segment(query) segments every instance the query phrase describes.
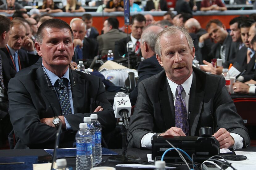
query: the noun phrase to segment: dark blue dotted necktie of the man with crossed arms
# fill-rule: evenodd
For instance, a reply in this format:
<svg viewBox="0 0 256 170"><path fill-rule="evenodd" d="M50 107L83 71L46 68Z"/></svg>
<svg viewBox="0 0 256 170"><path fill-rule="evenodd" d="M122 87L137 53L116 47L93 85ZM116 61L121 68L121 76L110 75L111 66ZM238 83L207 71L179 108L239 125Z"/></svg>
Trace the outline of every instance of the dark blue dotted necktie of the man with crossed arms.
<svg viewBox="0 0 256 170"><path fill-rule="evenodd" d="M65 78L65 80L67 80ZM72 114L72 109L70 105L70 101L68 100L68 90L65 90L64 87L66 87L64 84L64 78L60 78L56 81L56 85L59 86L61 89L58 90L59 92L59 99L60 99L60 106L62 115Z"/></svg>

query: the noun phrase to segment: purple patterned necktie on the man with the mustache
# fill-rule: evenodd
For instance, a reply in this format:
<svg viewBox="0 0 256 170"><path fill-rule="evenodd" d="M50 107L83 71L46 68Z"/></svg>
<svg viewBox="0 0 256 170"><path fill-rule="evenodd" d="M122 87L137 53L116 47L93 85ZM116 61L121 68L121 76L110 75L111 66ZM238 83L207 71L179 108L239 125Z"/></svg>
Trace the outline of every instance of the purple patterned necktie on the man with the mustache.
<svg viewBox="0 0 256 170"><path fill-rule="evenodd" d="M188 115L187 108L181 93L184 88L181 85L177 87L177 97L175 99L175 127L181 128L185 135L188 135L189 129L187 125ZM187 125L187 127L186 127Z"/></svg>

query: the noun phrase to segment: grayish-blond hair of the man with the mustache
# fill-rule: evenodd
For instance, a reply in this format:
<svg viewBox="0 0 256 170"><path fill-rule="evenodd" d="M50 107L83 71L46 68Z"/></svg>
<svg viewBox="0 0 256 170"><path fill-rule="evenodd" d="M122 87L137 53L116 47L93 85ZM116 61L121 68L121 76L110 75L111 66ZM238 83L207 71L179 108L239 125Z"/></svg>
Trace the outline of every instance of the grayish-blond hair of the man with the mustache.
<svg viewBox="0 0 256 170"><path fill-rule="evenodd" d="M169 26L166 29L164 29L163 31L161 31L160 34L158 34L158 36L156 38L155 53L158 54L159 57L162 57L162 47L161 47L161 44L160 44L160 39L162 37L169 37L171 35L178 35L178 34L180 34L179 32L184 34L184 36L186 37L186 39L188 41L189 49L191 51L193 50L194 43L193 43L193 40L192 40L191 36L188 33L188 30L185 29L184 27L180 27L180 26Z"/></svg>

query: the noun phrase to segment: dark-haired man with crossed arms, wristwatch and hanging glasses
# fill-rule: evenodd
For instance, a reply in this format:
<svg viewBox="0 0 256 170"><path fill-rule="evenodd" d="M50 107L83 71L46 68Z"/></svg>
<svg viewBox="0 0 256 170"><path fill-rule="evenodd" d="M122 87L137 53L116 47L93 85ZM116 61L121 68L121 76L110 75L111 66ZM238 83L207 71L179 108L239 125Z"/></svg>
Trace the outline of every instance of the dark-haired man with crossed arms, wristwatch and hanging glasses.
<svg viewBox="0 0 256 170"><path fill-rule="evenodd" d="M72 29L60 19L39 26L35 48L42 64L16 75L8 86L14 149L53 148L60 122L59 148L73 147L79 123L93 112L98 114L102 145L107 147L108 132L116 125L113 107L99 77L69 68L73 40Z"/></svg>

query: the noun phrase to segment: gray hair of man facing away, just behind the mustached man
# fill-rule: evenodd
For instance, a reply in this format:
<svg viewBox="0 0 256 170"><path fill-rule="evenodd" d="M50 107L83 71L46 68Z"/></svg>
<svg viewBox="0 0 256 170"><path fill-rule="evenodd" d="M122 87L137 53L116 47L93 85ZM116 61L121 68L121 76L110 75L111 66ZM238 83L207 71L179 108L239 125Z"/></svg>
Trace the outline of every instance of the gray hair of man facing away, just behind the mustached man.
<svg viewBox="0 0 256 170"><path fill-rule="evenodd" d="M148 26L141 35L141 42L146 42L149 48L155 52L155 41L157 35L163 30L160 26Z"/></svg>

